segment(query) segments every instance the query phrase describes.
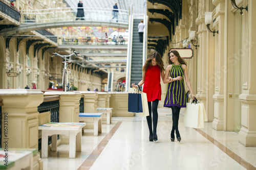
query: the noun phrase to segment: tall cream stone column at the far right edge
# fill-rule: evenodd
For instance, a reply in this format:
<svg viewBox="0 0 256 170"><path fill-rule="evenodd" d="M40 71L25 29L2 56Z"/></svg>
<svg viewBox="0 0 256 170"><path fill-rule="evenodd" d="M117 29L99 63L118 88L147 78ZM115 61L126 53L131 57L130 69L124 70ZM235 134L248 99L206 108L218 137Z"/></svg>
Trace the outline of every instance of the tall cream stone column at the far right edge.
<svg viewBox="0 0 256 170"><path fill-rule="evenodd" d="M244 7L247 4L244 2ZM256 7L256 1L248 1L249 9ZM254 21L256 11L254 10L243 10L244 12L244 58L243 74L242 74L242 94L239 99L242 102L242 115L241 125L242 128L239 132L239 142L246 147L256 147L256 80L255 80L255 54L256 54L256 33L255 27L256 22Z"/></svg>

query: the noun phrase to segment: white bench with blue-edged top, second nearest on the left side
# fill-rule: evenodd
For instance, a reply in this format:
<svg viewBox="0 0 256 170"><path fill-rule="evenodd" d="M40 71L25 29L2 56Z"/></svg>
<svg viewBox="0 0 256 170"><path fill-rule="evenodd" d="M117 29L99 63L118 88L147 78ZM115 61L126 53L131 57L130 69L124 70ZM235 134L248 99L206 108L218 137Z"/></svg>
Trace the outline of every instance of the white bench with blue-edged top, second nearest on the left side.
<svg viewBox="0 0 256 170"><path fill-rule="evenodd" d="M101 115L102 114L103 113L79 113L79 121L90 120L91 118L93 118L94 136L98 136L98 134L101 133L101 125L102 125Z"/></svg>

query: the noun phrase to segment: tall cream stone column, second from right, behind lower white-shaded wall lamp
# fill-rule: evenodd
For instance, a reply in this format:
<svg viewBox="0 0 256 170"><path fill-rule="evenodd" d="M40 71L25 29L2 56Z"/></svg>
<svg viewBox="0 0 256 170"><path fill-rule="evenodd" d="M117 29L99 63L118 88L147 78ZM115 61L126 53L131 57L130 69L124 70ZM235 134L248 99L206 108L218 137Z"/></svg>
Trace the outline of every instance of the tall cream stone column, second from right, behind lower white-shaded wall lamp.
<svg viewBox="0 0 256 170"><path fill-rule="evenodd" d="M212 4L216 6L213 13L213 23L210 25L212 30L219 30L219 34L215 34L215 94L214 99L214 121L212 128L215 130L224 130L224 39L225 39L225 1L215 0ZM209 36L212 36L212 33Z"/></svg>

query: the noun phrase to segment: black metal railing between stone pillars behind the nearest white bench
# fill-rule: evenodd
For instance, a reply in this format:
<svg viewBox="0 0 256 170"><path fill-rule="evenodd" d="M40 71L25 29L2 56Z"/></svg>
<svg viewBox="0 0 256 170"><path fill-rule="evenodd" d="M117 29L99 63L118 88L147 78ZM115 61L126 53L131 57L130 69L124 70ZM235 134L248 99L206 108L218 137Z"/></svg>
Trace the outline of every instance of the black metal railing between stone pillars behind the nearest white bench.
<svg viewBox="0 0 256 170"><path fill-rule="evenodd" d="M42 102L38 107L37 111L40 113L50 111L51 122L59 122L59 95L45 96L44 102ZM57 137L59 139L59 135ZM52 137L48 137L48 144L52 143ZM41 150L41 138L38 139L38 151Z"/></svg>

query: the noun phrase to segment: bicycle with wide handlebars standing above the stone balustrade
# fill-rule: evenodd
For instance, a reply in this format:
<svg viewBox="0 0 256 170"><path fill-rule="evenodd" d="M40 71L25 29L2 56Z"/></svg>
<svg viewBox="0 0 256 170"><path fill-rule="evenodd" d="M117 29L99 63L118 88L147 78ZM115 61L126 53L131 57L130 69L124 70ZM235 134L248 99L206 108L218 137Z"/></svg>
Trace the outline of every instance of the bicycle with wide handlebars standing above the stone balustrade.
<svg viewBox="0 0 256 170"><path fill-rule="evenodd" d="M60 55L58 53L53 53L52 57L61 57L62 59L65 59L65 61L62 61L62 65L63 65L63 73L62 73L62 83L58 83L59 86L62 86L63 91L70 91L71 90L71 83L70 83L70 79L69 79L69 74L71 72L70 70L70 65L72 64L72 61L67 61L67 57L71 57L71 56L78 56L79 53L72 53L70 55Z"/></svg>

